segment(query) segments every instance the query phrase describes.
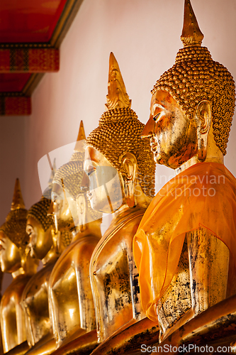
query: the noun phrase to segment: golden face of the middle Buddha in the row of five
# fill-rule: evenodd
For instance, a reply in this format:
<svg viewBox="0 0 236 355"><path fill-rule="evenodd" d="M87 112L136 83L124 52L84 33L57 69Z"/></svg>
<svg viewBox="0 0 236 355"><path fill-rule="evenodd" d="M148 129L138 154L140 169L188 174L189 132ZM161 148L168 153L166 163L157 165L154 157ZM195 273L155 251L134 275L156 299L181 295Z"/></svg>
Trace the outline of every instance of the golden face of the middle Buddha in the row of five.
<svg viewBox="0 0 236 355"><path fill-rule="evenodd" d="M77 202L57 183L52 185L53 217L56 229L72 231L78 224Z"/></svg>

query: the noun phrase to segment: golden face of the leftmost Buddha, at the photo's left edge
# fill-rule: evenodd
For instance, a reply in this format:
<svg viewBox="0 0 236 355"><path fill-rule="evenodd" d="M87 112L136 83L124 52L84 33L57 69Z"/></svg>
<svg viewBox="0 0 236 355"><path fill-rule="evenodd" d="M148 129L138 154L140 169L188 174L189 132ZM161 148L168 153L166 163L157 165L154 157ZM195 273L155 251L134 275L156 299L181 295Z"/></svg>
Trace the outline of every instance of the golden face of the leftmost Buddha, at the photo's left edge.
<svg viewBox="0 0 236 355"><path fill-rule="evenodd" d="M4 273L13 273L21 268L21 253L18 247L0 231L0 265Z"/></svg>

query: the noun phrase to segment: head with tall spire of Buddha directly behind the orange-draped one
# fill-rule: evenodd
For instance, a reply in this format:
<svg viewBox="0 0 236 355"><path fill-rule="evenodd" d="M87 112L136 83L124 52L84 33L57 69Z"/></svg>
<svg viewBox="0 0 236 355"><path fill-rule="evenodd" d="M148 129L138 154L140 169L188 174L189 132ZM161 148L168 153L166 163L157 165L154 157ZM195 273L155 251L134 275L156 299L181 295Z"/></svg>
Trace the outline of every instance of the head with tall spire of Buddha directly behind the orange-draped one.
<svg viewBox="0 0 236 355"><path fill-rule="evenodd" d="M106 111L86 139L84 170L94 210L113 213L121 206L147 207L154 195L154 161L140 136L143 124L130 109L118 62L109 60Z"/></svg>

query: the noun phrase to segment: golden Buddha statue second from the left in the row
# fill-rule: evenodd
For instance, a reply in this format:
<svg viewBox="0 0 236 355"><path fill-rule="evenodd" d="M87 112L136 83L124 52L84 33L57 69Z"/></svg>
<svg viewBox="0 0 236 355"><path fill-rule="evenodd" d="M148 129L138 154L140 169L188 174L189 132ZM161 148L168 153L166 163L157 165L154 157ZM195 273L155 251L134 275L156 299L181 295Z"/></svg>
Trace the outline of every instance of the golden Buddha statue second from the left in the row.
<svg viewBox="0 0 236 355"><path fill-rule="evenodd" d="M35 344L40 344L40 339L45 342L45 338L50 337L52 331L48 311L48 280L59 256L52 239L52 216L47 216L51 203L53 175L52 173L49 187L44 192L43 197L30 207L27 215L26 232L30 238L28 244L30 256L40 259L43 268L29 280L21 297L21 306L26 317L28 342L28 346L25 344L21 346L21 349L18 347L21 354L23 353L23 347L28 350Z"/></svg>

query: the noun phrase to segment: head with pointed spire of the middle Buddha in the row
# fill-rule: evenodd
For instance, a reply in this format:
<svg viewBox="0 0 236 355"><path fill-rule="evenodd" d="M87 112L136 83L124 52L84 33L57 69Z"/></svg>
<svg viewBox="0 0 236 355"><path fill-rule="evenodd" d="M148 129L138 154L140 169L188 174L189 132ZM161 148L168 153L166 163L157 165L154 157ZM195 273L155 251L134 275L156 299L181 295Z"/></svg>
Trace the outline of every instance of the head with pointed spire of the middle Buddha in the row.
<svg viewBox="0 0 236 355"><path fill-rule="evenodd" d="M62 165L52 181L52 202L55 224L63 234L76 228L83 229L85 224L101 219L88 204L81 189L84 175L84 124L81 121L74 153L68 163ZM88 208L86 208L88 207Z"/></svg>

